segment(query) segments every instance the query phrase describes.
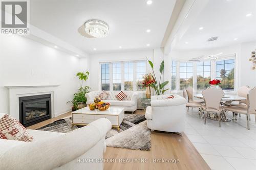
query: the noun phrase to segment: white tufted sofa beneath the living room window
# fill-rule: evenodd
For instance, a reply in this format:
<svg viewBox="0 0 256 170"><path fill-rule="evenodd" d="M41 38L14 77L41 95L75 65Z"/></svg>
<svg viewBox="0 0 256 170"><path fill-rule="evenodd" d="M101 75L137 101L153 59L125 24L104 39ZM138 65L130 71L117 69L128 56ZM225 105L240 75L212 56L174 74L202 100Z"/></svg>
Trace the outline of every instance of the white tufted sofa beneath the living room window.
<svg viewBox="0 0 256 170"><path fill-rule="evenodd" d="M87 104L94 103L94 98L99 96L102 91L91 91L86 94ZM110 93L109 98L103 100L104 102L109 102L111 107L123 107L124 111L134 112L137 110L137 99L138 93L134 91L124 91L127 94L127 97L123 101L116 99L115 95L120 91L106 91Z"/></svg>

